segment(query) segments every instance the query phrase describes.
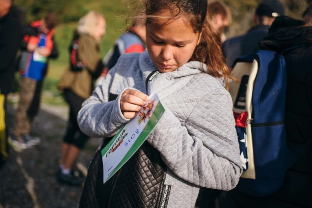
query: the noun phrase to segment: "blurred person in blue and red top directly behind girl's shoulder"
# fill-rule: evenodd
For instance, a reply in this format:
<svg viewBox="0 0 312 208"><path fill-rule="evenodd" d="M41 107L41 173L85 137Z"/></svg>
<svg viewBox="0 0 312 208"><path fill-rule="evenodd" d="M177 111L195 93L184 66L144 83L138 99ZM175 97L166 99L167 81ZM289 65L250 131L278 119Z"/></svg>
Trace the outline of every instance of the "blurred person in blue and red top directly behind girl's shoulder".
<svg viewBox="0 0 312 208"><path fill-rule="evenodd" d="M140 18L135 18L126 32L116 40L114 48L105 56L103 60L105 69L97 79L96 85L102 83L103 78L107 75L108 71L116 65L121 55L142 53L145 50L145 41L146 32L144 21Z"/></svg>

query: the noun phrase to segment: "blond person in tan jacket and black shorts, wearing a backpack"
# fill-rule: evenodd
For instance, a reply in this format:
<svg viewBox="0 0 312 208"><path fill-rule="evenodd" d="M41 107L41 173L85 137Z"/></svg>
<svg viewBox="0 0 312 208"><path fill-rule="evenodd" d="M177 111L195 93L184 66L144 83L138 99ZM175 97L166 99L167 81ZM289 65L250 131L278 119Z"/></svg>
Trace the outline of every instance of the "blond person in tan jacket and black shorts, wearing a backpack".
<svg viewBox="0 0 312 208"><path fill-rule="evenodd" d="M58 178L70 185L80 185L83 182L82 178L74 174L73 166L89 136L80 131L77 115L82 102L93 91L93 81L99 77L103 69L99 45L105 33L106 20L100 13L90 11L79 20L77 33L70 47L71 65L59 83L59 88L63 90L69 104L70 114L62 143Z"/></svg>

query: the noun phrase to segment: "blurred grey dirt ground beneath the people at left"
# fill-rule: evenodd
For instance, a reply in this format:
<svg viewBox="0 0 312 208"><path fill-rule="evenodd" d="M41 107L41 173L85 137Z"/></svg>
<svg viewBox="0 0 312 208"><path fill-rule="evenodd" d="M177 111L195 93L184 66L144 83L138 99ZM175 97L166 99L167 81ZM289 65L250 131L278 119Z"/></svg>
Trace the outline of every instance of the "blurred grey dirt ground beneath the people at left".
<svg viewBox="0 0 312 208"><path fill-rule="evenodd" d="M8 105L9 128L15 111L16 105ZM42 106L33 125L41 143L25 150L11 147L10 158L0 170L0 208L77 207L82 187L60 184L56 178L67 117L66 107ZM80 155L77 166L83 172L99 143L100 139L90 139Z"/></svg>

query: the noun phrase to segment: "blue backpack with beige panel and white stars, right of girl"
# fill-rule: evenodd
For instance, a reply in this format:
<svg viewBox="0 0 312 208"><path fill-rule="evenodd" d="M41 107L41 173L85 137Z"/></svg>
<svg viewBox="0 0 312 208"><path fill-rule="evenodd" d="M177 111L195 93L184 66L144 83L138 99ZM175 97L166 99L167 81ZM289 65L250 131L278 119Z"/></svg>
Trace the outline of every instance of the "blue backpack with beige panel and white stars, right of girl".
<svg viewBox="0 0 312 208"><path fill-rule="evenodd" d="M296 157L286 147L286 66L283 53L259 50L235 61L230 83L243 174L237 189L267 196L283 184Z"/></svg>

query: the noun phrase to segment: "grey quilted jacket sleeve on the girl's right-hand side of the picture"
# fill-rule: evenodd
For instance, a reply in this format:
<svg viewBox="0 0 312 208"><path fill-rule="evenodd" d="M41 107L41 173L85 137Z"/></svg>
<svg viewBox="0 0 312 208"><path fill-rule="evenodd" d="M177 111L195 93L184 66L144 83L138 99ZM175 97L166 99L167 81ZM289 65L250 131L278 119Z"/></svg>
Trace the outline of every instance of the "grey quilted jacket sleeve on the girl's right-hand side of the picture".
<svg viewBox="0 0 312 208"><path fill-rule="evenodd" d="M173 173L195 185L231 190L242 173L232 101L225 89L206 94L184 125L166 109L147 141Z"/></svg>

